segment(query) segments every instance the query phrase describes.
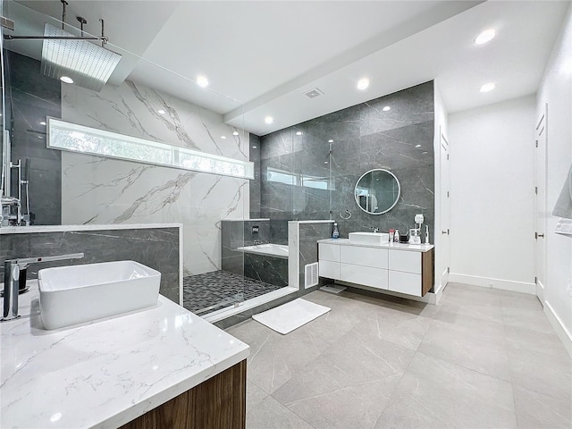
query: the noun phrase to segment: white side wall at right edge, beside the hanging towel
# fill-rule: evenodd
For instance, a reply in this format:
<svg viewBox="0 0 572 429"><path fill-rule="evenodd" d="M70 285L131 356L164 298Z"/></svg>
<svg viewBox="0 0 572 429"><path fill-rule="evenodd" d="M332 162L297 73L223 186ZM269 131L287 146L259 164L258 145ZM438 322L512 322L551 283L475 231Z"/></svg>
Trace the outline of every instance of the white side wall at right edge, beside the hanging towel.
<svg viewBox="0 0 572 429"><path fill-rule="evenodd" d="M550 215L572 162L572 6L552 49L537 102L537 114L548 103L544 311L572 354L572 238L553 232L559 219Z"/></svg>

